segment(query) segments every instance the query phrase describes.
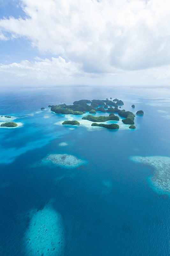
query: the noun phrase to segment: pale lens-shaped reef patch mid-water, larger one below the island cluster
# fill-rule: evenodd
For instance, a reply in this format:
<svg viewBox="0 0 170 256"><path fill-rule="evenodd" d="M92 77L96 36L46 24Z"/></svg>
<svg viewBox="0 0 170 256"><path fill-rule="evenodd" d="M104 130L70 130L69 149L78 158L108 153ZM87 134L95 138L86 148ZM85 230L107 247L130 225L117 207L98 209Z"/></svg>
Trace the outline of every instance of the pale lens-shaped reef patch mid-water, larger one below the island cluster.
<svg viewBox="0 0 170 256"><path fill-rule="evenodd" d="M50 154L42 160L42 163L44 164L48 164L50 162L65 168L76 168L85 164L84 160L68 154Z"/></svg>

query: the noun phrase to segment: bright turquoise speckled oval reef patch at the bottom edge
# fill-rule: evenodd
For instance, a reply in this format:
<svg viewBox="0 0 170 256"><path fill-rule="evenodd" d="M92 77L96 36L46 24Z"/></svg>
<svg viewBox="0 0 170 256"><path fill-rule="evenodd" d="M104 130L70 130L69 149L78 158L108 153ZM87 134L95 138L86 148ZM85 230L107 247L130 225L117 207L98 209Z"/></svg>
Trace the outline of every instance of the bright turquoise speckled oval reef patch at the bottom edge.
<svg viewBox="0 0 170 256"><path fill-rule="evenodd" d="M30 213L30 223L24 236L24 249L29 256L63 255L64 228L61 215L45 206Z"/></svg>

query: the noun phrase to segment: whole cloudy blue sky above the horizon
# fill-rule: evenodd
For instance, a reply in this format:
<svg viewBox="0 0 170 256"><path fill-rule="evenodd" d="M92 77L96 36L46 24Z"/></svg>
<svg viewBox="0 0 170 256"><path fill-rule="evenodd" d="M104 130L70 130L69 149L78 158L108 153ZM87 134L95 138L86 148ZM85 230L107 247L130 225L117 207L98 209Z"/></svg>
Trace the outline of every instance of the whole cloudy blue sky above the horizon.
<svg viewBox="0 0 170 256"><path fill-rule="evenodd" d="M170 85L169 0L0 0L0 87Z"/></svg>

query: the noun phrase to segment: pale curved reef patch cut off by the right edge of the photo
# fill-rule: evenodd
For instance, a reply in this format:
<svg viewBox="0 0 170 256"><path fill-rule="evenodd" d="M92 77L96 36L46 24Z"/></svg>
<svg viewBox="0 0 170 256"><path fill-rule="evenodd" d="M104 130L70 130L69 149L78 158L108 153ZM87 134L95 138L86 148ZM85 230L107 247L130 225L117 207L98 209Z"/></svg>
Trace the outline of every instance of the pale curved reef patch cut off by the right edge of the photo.
<svg viewBox="0 0 170 256"><path fill-rule="evenodd" d="M155 169L151 182L163 194L170 193L170 157L168 156L132 156L130 160L152 166Z"/></svg>

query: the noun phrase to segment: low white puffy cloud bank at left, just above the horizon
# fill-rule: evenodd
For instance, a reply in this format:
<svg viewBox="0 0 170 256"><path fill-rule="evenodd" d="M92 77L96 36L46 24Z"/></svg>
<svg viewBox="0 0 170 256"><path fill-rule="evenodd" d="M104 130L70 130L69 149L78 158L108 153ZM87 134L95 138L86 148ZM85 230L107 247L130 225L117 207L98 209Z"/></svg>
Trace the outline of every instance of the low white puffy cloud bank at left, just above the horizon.
<svg viewBox="0 0 170 256"><path fill-rule="evenodd" d="M0 73L13 74L32 80L62 79L81 76L78 64L66 62L62 57L49 59L35 58L35 61L22 60L20 63L0 65Z"/></svg>

